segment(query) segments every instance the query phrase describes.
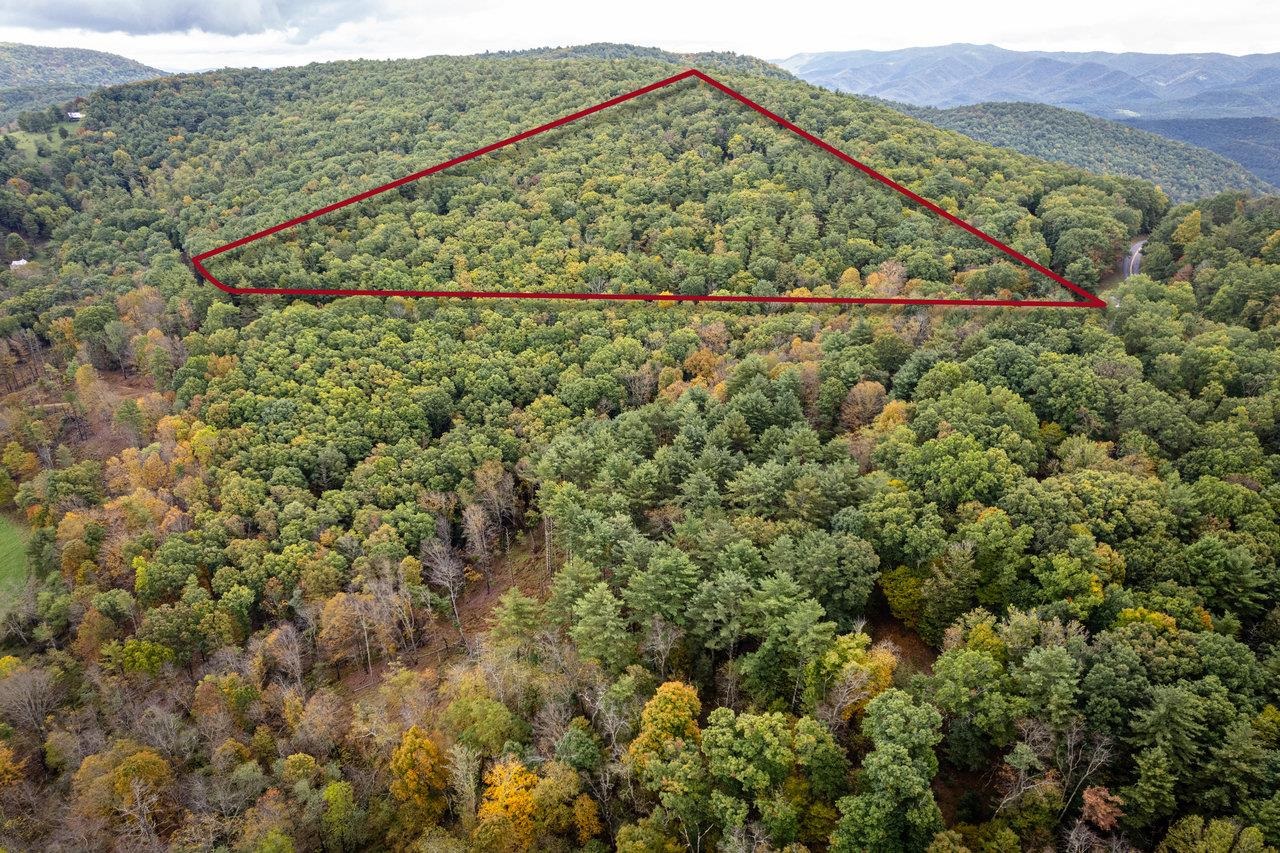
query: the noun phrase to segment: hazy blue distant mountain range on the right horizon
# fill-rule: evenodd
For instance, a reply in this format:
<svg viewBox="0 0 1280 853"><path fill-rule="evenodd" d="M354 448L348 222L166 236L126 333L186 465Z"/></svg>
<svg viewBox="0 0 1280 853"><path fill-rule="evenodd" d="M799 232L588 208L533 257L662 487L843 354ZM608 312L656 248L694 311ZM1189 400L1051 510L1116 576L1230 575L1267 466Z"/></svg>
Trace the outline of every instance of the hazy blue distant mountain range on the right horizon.
<svg viewBox="0 0 1280 853"><path fill-rule="evenodd" d="M1280 115L1280 54L1015 51L995 45L796 54L819 86L923 106L1034 101L1102 118Z"/></svg>

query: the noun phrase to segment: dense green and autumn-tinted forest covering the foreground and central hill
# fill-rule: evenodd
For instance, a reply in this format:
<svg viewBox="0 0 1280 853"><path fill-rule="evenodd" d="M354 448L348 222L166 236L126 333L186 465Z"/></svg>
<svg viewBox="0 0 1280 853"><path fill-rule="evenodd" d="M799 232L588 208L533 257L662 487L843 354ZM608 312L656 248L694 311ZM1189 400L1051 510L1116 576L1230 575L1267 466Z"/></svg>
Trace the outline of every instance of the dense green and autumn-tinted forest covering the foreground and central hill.
<svg viewBox="0 0 1280 853"><path fill-rule="evenodd" d="M1107 307L189 265L689 61L209 72L0 138L0 845L1280 848L1280 197L709 55ZM705 87L593 118L210 268L1062 296Z"/></svg>

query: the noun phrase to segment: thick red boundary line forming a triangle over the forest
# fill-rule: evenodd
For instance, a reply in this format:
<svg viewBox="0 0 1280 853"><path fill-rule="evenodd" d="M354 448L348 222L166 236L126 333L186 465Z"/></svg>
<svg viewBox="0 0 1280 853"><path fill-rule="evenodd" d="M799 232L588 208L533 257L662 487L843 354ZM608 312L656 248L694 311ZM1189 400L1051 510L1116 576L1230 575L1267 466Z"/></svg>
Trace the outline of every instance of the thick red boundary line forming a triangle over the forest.
<svg viewBox="0 0 1280 853"><path fill-rule="evenodd" d="M946 219L951 224L963 228L964 231L969 232L970 234L978 237L979 240L982 240L982 241L984 241L987 243L991 243L992 246L995 246L997 250L1000 250L1001 252L1004 252L1009 257L1012 257L1014 260L1019 261L1020 264L1034 269L1037 273L1041 273L1042 275L1047 275L1048 278L1051 278L1052 280L1057 282L1059 284L1061 284L1066 289L1071 291L1076 296L1084 297L1084 301L1070 301L1070 300L992 300L992 298L986 298L986 300L970 300L970 298L948 300L948 298L911 298L911 297L877 297L877 296L865 296L865 297L863 297L863 296L859 296L859 297L844 297L844 296L737 296L737 295L687 296L687 295L682 295L682 293L538 293L538 292L503 292L503 291L379 291L379 289L328 289L328 288L310 288L310 287L232 287L229 284L224 284L223 282L218 280L218 278L205 268L204 261L207 260L207 259L210 259L210 257L214 257L215 255L221 255L223 252L230 251L230 250L237 248L239 246L243 246L246 243L251 243L255 240L261 240L262 237L268 237L268 236L274 234L276 232L284 231L285 228L292 228L293 225L298 225L298 224L305 223L305 222L307 222L310 219L315 219L316 216L323 216L326 213L332 213L334 210L339 210L342 207L346 207L347 205L353 205L357 201L364 201L365 199L371 199L371 197L374 197L376 195L380 195L380 193L387 192L389 190L394 190L397 187L402 187L406 183L412 183L413 181L417 181L420 178L425 178L425 177L428 177L430 174L435 174L438 172L444 172L445 169L456 167L456 165L461 164L461 163L466 163L467 160L474 160L474 159L476 159L479 156L483 156L485 154L490 154L490 152L497 151L499 149L504 149L508 145L513 145L513 143L520 142L522 140L527 140L530 137L538 136L539 133L545 133L547 131L552 131L552 129L554 129L557 127L568 124L571 122L576 122L580 118L585 118L585 117L591 115L594 113L599 113L600 110L607 110L611 106L617 106L618 104L623 104L623 102L630 101L630 100L632 100L635 97L640 97L641 95L648 95L649 92L657 91L659 88L666 88L667 86L671 86L673 83L678 83L680 81L689 79L691 77L692 78L698 78L698 79L703 81L704 83L708 83L713 88L717 88L721 92L728 95L733 100L745 104L746 106L751 108L753 110L755 110L756 113L759 113L764 118L769 119L771 122L773 122L778 127L782 127L782 128L790 131L791 133L795 133L796 136L799 136L800 138L805 140L806 142L810 142L810 143L818 146L823 151L827 151L828 154L838 158L840 160L842 160L846 164L854 167L855 169L858 169L859 172L867 174L868 177L874 178L876 181L881 182L882 184L884 184L890 190L893 190L895 192L897 192L897 193L900 193L902 196L906 196L908 199L910 199L915 204L920 205L922 207L924 207L924 209L927 209L927 210L929 210L929 211L932 211L932 213L942 216L943 219ZM934 202L929 201L928 199L911 192L910 190L908 190L902 184L897 183L892 178L888 178L888 177L881 174L879 172L877 172L876 169L870 168L865 163L861 163L860 160L856 160L856 159L849 156L847 154L845 154L840 149L835 147L833 145L829 145L828 142L824 142L823 140L820 140L817 136L809 133L808 131L804 131L803 128L797 127L796 124L792 124L791 122L788 122L787 119L782 118L781 115L767 110L765 108L760 106L759 104L756 104L751 99L746 97L741 92L739 92L739 91L736 91L733 88L730 88L724 83L722 83L718 79L710 77L709 74L704 74L703 72L698 70L696 68L690 68L689 70L684 70L684 72L681 72L678 74L675 74L672 77L667 77L666 79L659 79L655 83L649 83L648 86L643 86L643 87L640 87L640 88L637 88L635 91L627 92L626 95L618 95L617 97L611 97L607 101L600 101L599 104L595 104L594 106L588 106L586 109L579 110L576 113L570 113L568 115L563 115L563 117L561 117L561 118L558 118L558 119L556 119L553 122L548 122L547 124L540 124L540 126L538 126L535 128L530 128L527 131L524 131L522 133L517 133L516 136L507 137L506 140L499 140L498 142L490 142L489 145L484 146L483 149L476 149L475 151L471 151L468 154L462 154L460 156L456 156L452 160L445 160L444 163L438 163L434 167L422 169L421 172L415 172L412 174L407 174L403 178L397 178L396 181L392 181L390 183L384 183L380 187L374 187L372 190L366 190L366 191L364 191L361 193L351 196L349 199L343 199L342 201L335 201L332 205L325 205L324 207L320 207L319 210L312 210L311 213L302 214L301 216L294 216L293 219L288 219L288 220L282 222L282 223L279 223L276 225L271 225L270 228L264 228L262 231L255 232L255 233L248 234L246 237L241 237L239 240L233 240L232 242L229 242L229 243L227 243L224 246L219 246L218 248L212 248L212 250L210 250L207 252L201 252L198 255L195 255L191 259L191 263L196 268L196 270L201 275L204 275L206 279L209 279L209 282L211 282L215 287L218 287L219 289L225 291L228 293L236 295L236 296L248 296L248 295L264 295L264 296L407 296L407 297L507 298L507 300L608 300L608 301L643 301L643 302L787 302L787 304L808 304L808 305L813 305L813 304L817 304L817 305L955 305L955 306L992 305L992 306L1002 306L1002 307L1093 307L1093 309L1106 307L1106 301L1098 298L1097 296L1094 296L1093 293L1088 292L1087 289L1084 289L1079 284L1074 284L1074 283L1066 280L1065 278L1062 278L1061 275L1059 275L1053 270L1048 269L1047 266L1043 266L1042 264L1036 263L1034 260L1032 260L1030 257L1027 257L1025 255L1023 255L1018 250L1015 250L1015 248L1012 248L1010 246L1006 246L1005 243L1000 242L998 240L996 240L995 237L992 237L987 232L984 232L984 231L982 231L979 228L975 228L974 225L970 225L965 220L960 219L959 216L955 216L955 215L947 213L946 210L943 210L942 207L940 207Z"/></svg>

